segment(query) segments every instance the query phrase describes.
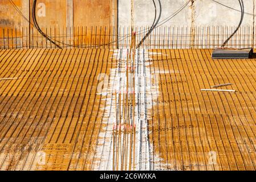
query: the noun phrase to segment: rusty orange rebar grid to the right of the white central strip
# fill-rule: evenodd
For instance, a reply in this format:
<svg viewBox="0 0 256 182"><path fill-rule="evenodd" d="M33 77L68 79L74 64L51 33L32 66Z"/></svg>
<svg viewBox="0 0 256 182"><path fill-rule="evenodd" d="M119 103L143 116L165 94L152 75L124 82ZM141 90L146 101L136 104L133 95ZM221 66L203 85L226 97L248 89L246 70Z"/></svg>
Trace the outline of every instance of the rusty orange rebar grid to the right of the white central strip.
<svg viewBox="0 0 256 182"><path fill-rule="evenodd" d="M153 52L160 94L149 138L164 159L158 169L255 170L255 59L212 60L209 49ZM237 92L200 91L228 82L224 89Z"/></svg>

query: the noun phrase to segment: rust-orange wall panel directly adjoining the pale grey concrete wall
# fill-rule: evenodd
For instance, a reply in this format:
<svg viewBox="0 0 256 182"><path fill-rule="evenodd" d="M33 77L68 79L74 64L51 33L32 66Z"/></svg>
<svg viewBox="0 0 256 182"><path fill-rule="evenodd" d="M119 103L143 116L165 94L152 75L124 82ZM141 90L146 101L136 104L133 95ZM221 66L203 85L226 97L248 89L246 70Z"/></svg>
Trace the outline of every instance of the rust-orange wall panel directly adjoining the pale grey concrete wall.
<svg viewBox="0 0 256 182"><path fill-rule="evenodd" d="M83 40L79 42L109 43L111 39L108 36L98 36L94 39L91 35L113 34L110 27L117 26L117 0L74 0L73 2L73 23L76 28L74 35L81 35L82 32L84 35Z"/></svg>

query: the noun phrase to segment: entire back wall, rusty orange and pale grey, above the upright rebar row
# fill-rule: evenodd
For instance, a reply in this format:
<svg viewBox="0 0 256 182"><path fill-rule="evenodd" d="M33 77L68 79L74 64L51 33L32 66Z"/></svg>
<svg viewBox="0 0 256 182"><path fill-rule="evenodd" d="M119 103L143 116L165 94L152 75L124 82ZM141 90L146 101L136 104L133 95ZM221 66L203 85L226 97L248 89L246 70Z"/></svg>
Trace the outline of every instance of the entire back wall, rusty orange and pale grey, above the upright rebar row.
<svg viewBox="0 0 256 182"><path fill-rule="evenodd" d="M118 0L38 0L46 5L46 16L38 17L40 26L115 26L118 19L119 26L131 26L131 1ZM151 26L155 18L155 7L152 0L134 1L134 24L135 26ZM161 0L161 19L164 20L177 11L188 0ZM239 10L237 0L216 0L224 5ZM29 0L13 0L22 13L29 18ZM160 13L158 0L157 17ZM246 13L253 14L255 0L245 0ZM32 0L30 0L32 6ZM38 7L37 7L38 8ZM31 8L30 8L31 9ZM39 8L38 8L39 9ZM178 15L169 20L164 26L235 26L239 21L240 13L219 5L212 0L193 0ZM27 26L9 0L0 1L0 26L20 27ZM245 15L243 25L252 26L254 18Z"/></svg>

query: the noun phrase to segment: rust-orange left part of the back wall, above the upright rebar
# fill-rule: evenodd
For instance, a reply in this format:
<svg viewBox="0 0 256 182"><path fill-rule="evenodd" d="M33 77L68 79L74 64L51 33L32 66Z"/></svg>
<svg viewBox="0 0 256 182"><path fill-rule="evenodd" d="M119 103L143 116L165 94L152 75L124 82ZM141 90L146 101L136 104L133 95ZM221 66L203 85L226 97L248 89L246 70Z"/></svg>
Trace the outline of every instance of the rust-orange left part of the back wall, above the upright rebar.
<svg viewBox="0 0 256 182"><path fill-rule="evenodd" d="M29 19L32 0L13 0L15 5ZM116 25L117 0L73 0L72 10L67 10L66 0L37 0L46 5L46 17L38 17L42 27L66 27L67 16L72 16L74 26L114 26ZM36 11L38 11L36 7ZM74 12L67 15L67 12ZM31 19L32 21L32 19ZM18 14L9 0L0 0L0 27L27 27L29 23Z"/></svg>

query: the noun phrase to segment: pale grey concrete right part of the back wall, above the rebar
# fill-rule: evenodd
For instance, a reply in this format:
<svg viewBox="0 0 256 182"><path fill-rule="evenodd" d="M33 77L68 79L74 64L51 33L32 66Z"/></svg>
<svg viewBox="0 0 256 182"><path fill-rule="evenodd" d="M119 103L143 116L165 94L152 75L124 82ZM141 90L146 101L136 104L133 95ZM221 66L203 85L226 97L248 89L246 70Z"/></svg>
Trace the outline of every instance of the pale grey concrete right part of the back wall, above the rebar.
<svg viewBox="0 0 256 182"><path fill-rule="evenodd" d="M152 0L134 0L135 26L151 26L155 17L155 7ZM237 0L216 0L231 8L240 10ZM254 14L255 0L244 0L246 13ZM159 3L157 16L159 15ZM161 20L168 18L188 0L161 0ZM222 6L212 0L193 0L178 15L169 20L164 26L236 26L241 13ZM243 25L253 26L253 15L245 14ZM160 20L160 22L161 22ZM131 0L119 0L119 26L131 24Z"/></svg>

